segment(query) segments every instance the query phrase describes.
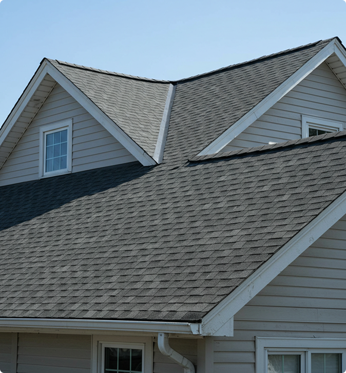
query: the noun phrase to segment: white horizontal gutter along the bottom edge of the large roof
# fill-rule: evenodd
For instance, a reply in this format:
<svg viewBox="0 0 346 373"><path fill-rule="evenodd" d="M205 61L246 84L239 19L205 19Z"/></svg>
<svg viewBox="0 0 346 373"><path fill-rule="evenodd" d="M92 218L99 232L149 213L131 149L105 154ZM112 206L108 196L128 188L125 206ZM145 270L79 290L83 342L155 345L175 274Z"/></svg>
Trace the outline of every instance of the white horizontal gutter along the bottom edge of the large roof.
<svg viewBox="0 0 346 373"><path fill-rule="evenodd" d="M0 318L1 328L138 331L200 335L200 324L188 322Z"/></svg>

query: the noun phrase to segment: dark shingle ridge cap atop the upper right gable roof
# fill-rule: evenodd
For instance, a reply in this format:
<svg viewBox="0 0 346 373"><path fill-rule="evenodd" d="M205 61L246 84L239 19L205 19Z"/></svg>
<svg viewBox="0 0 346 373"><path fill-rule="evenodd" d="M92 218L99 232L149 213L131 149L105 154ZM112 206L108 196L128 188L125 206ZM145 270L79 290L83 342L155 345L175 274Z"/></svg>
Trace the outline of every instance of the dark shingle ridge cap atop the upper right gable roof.
<svg viewBox="0 0 346 373"><path fill-rule="evenodd" d="M182 79L179 79L179 80L175 80L174 82L185 82L185 81L188 81L188 80L197 79L199 77L204 77L204 76L208 76L208 75L217 74L217 73L222 72L222 71L232 70L234 68L238 68L238 67L241 67L241 66L251 65L251 64L256 63L257 61L262 61L262 60L265 60L265 59L271 59L271 58L277 57L279 55L294 53L294 52L297 52L298 50L303 50L303 49L311 48L311 47L314 47L318 43L321 43L321 42L330 42L331 40L333 40L335 38L339 39L337 36L334 36L334 37L331 37L330 39L318 40L317 42L314 42L314 43L305 44L305 45L302 45L302 46L299 46L299 47L295 47L295 48L291 48L291 49L285 49L285 50L280 51L280 52L275 52L275 53L272 53L272 54L264 55L264 56L261 56L261 57L258 57L258 58L254 58L254 59L250 59L248 61L244 61L244 62L241 62L241 63L238 63L238 64L225 66L225 67L222 67L220 69L208 71L208 72L205 72L205 73L202 73L202 74L198 74L198 75L193 75L193 76L190 76L188 78L182 78Z"/></svg>

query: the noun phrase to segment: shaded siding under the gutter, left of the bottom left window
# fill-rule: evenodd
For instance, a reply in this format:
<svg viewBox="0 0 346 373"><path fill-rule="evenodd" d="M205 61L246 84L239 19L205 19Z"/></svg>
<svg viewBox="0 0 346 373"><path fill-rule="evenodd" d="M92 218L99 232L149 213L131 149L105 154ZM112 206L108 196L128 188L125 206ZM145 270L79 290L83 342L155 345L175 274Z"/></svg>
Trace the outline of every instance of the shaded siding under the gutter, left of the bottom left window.
<svg viewBox="0 0 346 373"><path fill-rule="evenodd" d="M91 337L18 335L17 373L90 373Z"/></svg>

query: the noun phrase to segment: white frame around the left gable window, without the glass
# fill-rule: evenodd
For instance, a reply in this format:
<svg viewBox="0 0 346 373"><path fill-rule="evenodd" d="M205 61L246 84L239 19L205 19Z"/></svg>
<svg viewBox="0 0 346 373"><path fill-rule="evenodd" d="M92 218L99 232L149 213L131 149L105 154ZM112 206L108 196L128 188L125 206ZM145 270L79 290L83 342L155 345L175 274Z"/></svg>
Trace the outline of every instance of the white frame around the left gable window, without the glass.
<svg viewBox="0 0 346 373"><path fill-rule="evenodd" d="M45 172L46 161L46 137L50 133L67 130L67 162L66 169ZM68 174L72 172L72 119L62 120L48 126L40 127L40 156L39 156L39 177L50 177L55 175Z"/></svg>

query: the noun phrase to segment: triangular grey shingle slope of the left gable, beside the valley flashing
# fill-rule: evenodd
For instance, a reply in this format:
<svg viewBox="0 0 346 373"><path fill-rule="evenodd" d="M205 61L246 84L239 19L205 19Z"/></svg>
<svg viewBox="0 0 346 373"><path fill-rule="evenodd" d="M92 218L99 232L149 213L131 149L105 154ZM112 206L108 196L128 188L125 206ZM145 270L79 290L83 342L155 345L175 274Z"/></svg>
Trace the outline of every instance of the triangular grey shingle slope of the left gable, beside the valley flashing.
<svg viewBox="0 0 346 373"><path fill-rule="evenodd" d="M168 81L48 59L150 156L155 152Z"/></svg>

